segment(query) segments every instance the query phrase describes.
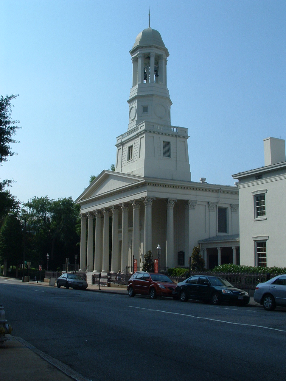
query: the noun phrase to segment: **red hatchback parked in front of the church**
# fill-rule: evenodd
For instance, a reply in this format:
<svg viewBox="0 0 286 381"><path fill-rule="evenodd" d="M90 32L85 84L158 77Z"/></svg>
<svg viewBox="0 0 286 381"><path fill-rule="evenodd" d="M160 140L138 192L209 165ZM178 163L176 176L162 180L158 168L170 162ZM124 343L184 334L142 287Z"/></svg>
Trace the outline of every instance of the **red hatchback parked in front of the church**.
<svg viewBox="0 0 286 381"><path fill-rule="evenodd" d="M150 295L151 299L157 296L174 296L176 283L167 275L138 271L128 281L129 296L136 294Z"/></svg>

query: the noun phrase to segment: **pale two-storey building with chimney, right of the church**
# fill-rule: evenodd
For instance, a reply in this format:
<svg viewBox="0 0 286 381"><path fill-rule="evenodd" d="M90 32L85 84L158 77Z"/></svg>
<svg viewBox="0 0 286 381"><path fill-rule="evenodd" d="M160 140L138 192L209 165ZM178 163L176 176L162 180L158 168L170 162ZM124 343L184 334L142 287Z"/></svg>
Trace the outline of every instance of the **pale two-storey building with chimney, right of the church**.
<svg viewBox="0 0 286 381"><path fill-rule="evenodd" d="M285 140L264 139L264 166L233 178L239 181L241 264L286 267Z"/></svg>

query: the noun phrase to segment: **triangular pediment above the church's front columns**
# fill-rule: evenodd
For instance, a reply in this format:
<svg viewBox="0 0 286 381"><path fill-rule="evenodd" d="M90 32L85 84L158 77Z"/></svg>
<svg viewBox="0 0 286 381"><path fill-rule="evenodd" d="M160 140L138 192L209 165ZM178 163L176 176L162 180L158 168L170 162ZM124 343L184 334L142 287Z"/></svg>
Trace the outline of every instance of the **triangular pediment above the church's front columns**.
<svg viewBox="0 0 286 381"><path fill-rule="evenodd" d="M102 171L96 179L76 199L76 203L110 194L132 184L143 181L144 177L115 171Z"/></svg>

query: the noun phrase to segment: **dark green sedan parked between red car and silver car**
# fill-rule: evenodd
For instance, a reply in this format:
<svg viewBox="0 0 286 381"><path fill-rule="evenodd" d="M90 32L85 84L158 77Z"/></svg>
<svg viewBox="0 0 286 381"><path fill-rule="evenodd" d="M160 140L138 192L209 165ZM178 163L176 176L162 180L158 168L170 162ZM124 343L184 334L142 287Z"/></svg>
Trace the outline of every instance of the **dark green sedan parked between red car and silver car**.
<svg viewBox="0 0 286 381"><path fill-rule="evenodd" d="M194 299L215 305L221 302L245 305L250 299L246 291L233 287L226 279L205 275L194 275L178 283L175 298L182 302Z"/></svg>

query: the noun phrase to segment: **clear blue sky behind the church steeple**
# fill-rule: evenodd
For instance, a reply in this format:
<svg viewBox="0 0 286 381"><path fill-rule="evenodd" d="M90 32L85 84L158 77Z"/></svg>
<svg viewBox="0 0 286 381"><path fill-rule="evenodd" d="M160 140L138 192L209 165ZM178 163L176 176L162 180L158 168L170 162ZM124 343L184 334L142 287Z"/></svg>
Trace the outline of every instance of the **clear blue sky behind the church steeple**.
<svg viewBox="0 0 286 381"><path fill-rule="evenodd" d="M174 126L188 128L191 178L233 185L264 165L263 139L286 138L285 1L1 1L0 94L19 93L18 155L0 179L21 202L74 200L115 163L128 125L141 30L170 56Z"/></svg>

